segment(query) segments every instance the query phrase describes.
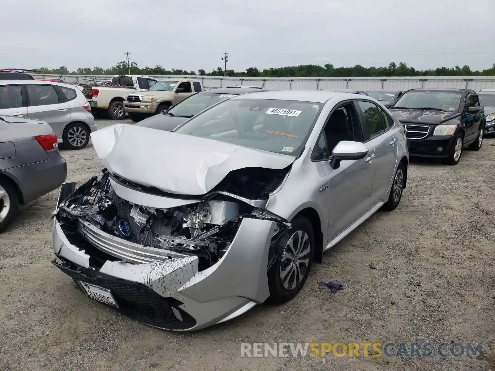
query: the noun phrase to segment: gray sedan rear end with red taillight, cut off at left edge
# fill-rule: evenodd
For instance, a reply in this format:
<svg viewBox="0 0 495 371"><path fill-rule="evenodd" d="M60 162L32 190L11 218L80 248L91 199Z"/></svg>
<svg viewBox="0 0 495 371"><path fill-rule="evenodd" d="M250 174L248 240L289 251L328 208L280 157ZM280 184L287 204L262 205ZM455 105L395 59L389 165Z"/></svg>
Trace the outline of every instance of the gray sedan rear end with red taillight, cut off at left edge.
<svg viewBox="0 0 495 371"><path fill-rule="evenodd" d="M67 164L46 122L0 115L0 232L19 205L59 187L66 176Z"/></svg>

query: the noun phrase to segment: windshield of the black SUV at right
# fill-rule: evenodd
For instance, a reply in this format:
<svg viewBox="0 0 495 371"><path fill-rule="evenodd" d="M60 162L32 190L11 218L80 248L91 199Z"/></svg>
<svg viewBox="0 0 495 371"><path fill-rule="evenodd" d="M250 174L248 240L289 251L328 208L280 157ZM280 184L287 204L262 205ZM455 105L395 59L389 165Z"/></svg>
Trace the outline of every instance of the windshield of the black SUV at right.
<svg viewBox="0 0 495 371"><path fill-rule="evenodd" d="M431 109L436 111L457 111L461 100L460 93L409 91L396 101L392 108Z"/></svg>

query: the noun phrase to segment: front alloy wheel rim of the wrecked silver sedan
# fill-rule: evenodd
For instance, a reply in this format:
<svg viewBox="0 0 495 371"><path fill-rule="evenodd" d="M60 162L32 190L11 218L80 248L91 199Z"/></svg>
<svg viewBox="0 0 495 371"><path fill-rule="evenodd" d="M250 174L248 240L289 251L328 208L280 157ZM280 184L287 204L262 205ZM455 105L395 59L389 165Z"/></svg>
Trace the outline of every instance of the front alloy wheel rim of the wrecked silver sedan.
<svg viewBox="0 0 495 371"><path fill-rule="evenodd" d="M297 287L308 272L311 240L304 231L295 232L282 253L280 280L287 290Z"/></svg>

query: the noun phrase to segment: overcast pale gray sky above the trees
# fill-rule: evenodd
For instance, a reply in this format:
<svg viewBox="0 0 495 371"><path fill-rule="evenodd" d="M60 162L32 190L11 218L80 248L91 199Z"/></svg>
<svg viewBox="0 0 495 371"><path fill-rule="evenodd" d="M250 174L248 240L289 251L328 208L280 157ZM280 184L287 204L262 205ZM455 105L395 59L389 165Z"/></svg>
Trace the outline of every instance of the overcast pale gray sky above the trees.
<svg viewBox="0 0 495 371"><path fill-rule="evenodd" d="M495 0L0 0L0 68L495 62ZM439 53L439 54L435 54ZM444 54L445 53L445 54Z"/></svg>

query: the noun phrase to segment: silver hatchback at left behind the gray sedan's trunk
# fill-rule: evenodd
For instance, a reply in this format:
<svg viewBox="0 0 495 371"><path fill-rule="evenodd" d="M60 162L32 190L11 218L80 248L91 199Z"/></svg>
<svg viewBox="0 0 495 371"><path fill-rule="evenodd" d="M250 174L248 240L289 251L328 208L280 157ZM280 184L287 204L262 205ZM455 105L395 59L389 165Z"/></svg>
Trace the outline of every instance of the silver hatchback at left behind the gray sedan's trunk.
<svg viewBox="0 0 495 371"><path fill-rule="evenodd" d="M88 145L95 118L83 93L72 85L50 81L0 81L0 114L47 122L69 149Z"/></svg>

